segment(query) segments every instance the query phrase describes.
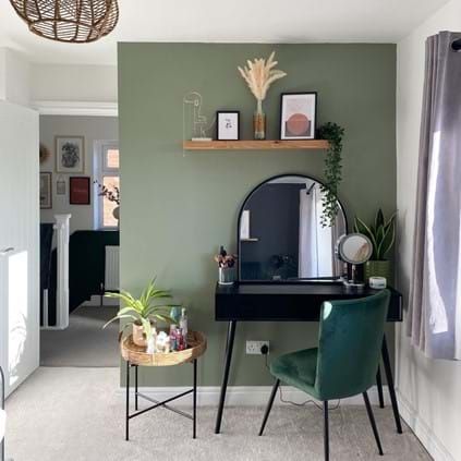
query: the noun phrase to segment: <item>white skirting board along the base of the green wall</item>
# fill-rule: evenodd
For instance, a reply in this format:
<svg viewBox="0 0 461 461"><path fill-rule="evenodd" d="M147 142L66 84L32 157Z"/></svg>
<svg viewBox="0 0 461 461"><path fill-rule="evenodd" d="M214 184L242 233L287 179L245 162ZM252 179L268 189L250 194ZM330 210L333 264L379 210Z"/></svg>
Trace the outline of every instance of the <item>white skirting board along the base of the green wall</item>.
<svg viewBox="0 0 461 461"><path fill-rule="evenodd" d="M156 400L167 400L174 395L184 392L191 387L139 387L139 392L145 393ZM283 400L291 400L296 403L302 403L310 399L306 393L296 390L289 386L281 386ZM134 390L134 389L132 389ZM270 386L229 386L226 395L226 405L242 405L242 407L264 407L267 404L269 399L271 387ZM124 393L125 389L120 388L119 392ZM199 407L217 407L219 402L219 386L203 386L197 388L197 404ZM386 405L390 405L389 392L387 386L383 386L384 401ZM286 404L280 401L280 393L277 393L277 398L274 404ZM368 390L368 397L372 404L378 402L378 391L376 386ZM331 401L335 405L337 401ZM177 407L191 405L190 396L182 399L178 399L174 404ZM350 397L342 399L341 404L345 405L362 405L362 396Z"/></svg>

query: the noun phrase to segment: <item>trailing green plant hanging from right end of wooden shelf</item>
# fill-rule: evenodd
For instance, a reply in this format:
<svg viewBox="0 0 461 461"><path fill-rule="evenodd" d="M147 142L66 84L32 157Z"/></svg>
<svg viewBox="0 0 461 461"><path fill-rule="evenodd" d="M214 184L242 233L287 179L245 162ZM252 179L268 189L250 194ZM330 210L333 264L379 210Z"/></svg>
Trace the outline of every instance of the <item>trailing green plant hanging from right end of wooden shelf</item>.
<svg viewBox="0 0 461 461"><path fill-rule="evenodd" d="M344 129L336 123L325 123L318 129L318 136L329 142L327 156L325 158L325 185L322 186L324 193L322 226L331 227L338 214L338 186L342 178L341 151L342 136Z"/></svg>

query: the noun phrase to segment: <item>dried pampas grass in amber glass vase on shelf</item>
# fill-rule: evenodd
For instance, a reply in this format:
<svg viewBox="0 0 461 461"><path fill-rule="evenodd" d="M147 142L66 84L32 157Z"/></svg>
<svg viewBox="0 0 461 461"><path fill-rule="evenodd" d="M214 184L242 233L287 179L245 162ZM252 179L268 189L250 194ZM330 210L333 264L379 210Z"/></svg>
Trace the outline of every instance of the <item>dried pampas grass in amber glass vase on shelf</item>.
<svg viewBox="0 0 461 461"><path fill-rule="evenodd" d="M256 111L253 116L253 131L255 139L266 138L266 114L263 111L263 101L266 99L270 85L287 75L283 71L274 69L278 62L274 60L276 52L272 51L269 59L255 58L254 61L247 60L248 66L239 65L239 72L248 85L250 90L256 98Z"/></svg>

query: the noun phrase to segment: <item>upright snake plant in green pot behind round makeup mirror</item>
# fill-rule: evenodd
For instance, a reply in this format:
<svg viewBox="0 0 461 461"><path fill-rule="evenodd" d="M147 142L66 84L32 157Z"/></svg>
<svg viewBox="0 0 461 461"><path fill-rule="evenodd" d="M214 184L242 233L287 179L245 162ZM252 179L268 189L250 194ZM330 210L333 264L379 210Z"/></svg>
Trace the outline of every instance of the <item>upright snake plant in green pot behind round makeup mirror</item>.
<svg viewBox="0 0 461 461"><path fill-rule="evenodd" d="M387 255L396 241L396 215L397 211L386 219L379 208L375 222L369 226L355 217L354 231L366 235L373 244L372 257L365 263L365 280L369 277L385 277L389 282L392 281L392 267Z"/></svg>

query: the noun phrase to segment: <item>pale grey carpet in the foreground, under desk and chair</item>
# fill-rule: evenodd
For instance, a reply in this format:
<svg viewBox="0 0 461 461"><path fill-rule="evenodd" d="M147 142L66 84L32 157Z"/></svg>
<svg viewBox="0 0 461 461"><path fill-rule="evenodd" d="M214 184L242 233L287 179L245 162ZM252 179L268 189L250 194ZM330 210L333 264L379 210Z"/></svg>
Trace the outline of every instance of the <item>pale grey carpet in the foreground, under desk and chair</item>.
<svg viewBox="0 0 461 461"><path fill-rule="evenodd" d="M214 434L216 408L198 409L192 423L163 409L131 422L124 441L124 395L114 368L39 368L7 402L7 452L14 461L320 461L322 411L275 407L266 434L257 430L264 409L228 408L222 434ZM404 426L396 433L389 408L375 409L385 457L376 451L366 412L342 405L331 411L331 461L427 461Z"/></svg>

